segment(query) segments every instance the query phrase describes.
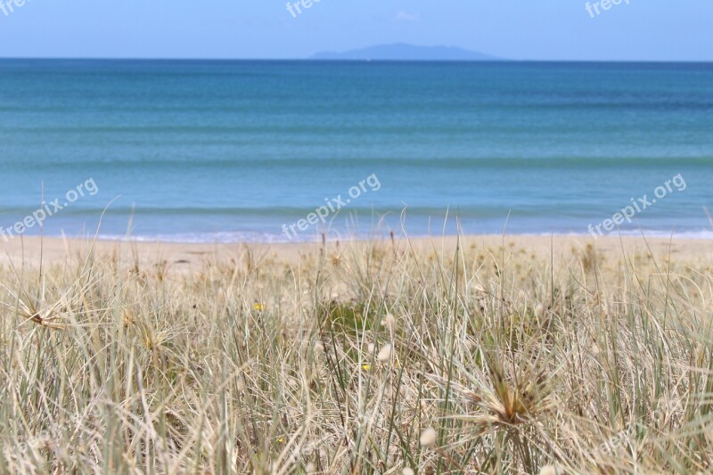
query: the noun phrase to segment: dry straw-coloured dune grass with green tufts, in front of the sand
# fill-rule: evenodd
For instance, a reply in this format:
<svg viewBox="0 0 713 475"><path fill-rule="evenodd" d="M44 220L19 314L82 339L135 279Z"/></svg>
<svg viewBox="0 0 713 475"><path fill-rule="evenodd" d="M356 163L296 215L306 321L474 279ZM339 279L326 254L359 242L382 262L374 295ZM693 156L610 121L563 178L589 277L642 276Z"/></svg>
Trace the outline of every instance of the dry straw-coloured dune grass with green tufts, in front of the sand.
<svg viewBox="0 0 713 475"><path fill-rule="evenodd" d="M713 470L711 262L355 242L0 269L0 470Z"/></svg>

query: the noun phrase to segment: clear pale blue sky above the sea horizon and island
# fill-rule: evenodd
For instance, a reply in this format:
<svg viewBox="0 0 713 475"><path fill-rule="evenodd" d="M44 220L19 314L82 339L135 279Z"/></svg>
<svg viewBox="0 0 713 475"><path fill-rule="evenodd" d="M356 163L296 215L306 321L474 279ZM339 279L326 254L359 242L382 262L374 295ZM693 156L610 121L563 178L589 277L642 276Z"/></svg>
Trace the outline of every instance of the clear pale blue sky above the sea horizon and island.
<svg viewBox="0 0 713 475"><path fill-rule="evenodd" d="M0 57L305 58L404 42L520 60L713 61L710 0L622 0L594 18L581 0L322 0L297 18L285 0L25 2L0 10Z"/></svg>

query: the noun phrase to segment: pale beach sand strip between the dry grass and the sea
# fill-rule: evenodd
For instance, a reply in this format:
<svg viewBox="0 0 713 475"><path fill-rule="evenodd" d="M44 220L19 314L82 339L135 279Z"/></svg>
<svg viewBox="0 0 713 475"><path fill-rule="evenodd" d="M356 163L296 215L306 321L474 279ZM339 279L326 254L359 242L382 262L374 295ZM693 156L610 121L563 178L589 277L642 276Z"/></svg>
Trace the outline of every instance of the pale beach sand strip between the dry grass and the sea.
<svg viewBox="0 0 713 475"><path fill-rule="evenodd" d="M361 242L366 244L366 242ZM643 236L607 236L594 239L589 236L535 236L535 235L471 235L433 238L395 238L393 242L381 242L384 246L405 250L411 247L414 252L453 253L456 245L463 249L527 250L530 254L543 258L554 258L571 254L576 250L594 247L599 254L643 255L652 253L656 258L667 256L682 260L704 261L713 258L713 242L700 239L644 238ZM327 254L348 245L359 246L360 242L326 242ZM136 258L143 265L164 263L179 273L194 271L206 260L212 263L225 263L230 259L241 258L246 251L257 256L293 264L300 256L318 255L323 249L321 242L288 243L176 243L176 242L115 242L94 241L87 238L61 239L27 237L10 242L0 242L0 264L12 262L14 265L25 263L37 265L61 264L70 258L86 257L89 250L99 256L119 258L125 263L135 264Z"/></svg>

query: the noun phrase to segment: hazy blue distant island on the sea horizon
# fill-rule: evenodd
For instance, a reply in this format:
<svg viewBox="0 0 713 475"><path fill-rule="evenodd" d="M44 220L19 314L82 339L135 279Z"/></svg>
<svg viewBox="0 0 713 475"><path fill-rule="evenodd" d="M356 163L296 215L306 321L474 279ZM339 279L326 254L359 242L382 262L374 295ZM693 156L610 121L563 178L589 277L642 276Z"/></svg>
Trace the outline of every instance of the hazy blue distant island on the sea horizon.
<svg viewBox="0 0 713 475"><path fill-rule="evenodd" d="M502 61L488 54L452 46L377 45L345 53L316 53L312 60L341 61Z"/></svg>

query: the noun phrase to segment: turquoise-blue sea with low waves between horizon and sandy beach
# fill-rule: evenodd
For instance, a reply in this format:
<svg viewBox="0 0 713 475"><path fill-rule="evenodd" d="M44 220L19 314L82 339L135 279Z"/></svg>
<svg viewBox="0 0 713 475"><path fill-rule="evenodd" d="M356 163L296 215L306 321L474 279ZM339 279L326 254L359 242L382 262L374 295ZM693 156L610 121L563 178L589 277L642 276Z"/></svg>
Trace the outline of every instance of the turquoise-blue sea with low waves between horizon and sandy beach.
<svg viewBox="0 0 713 475"><path fill-rule="evenodd" d="M4 228L94 180L49 235L585 234L679 174L622 230L707 235L713 64L2 60L0 169Z"/></svg>

